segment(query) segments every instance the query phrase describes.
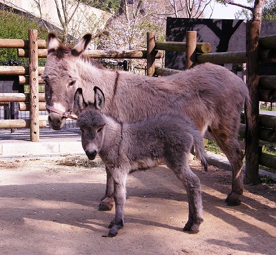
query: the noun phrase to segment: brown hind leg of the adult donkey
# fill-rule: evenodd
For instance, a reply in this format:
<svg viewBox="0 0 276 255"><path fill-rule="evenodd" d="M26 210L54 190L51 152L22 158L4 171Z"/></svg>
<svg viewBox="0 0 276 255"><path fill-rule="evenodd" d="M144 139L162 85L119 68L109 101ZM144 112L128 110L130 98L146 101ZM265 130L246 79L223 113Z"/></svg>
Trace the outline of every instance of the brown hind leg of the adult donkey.
<svg viewBox="0 0 276 255"><path fill-rule="evenodd" d="M229 206L239 205L241 196L244 190L243 174L242 174L242 159L244 152L235 134L226 134L223 130L212 129L215 141L220 149L226 154L228 161L232 166L232 189L226 198L226 203Z"/></svg>

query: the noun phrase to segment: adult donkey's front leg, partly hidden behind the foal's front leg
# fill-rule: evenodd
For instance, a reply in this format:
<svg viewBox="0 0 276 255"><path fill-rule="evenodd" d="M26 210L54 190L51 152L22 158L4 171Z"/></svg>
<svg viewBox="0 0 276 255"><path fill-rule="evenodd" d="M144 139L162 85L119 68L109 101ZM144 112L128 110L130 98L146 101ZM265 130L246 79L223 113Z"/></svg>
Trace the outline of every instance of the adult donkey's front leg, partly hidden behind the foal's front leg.
<svg viewBox="0 0 276 255"><path fill-rule="evenodd" d="M106 194L101 198L99 211L110 211L113 208L114 181L110 170L106 167Z"/></svg>

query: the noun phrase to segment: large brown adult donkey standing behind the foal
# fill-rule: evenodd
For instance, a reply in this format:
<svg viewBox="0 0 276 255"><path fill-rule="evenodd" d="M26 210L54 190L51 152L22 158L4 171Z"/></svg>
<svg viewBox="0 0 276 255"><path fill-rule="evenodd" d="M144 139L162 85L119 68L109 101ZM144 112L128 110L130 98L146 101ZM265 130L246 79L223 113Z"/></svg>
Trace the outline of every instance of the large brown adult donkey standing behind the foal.
<svg viewBox="0 0 276 255"><path fill-rule="evenodd" d="M103 112L117 121L137 121L158 112L174 111L186 115L201 134L209 129L226 154L233 169L232 189L226 203L239 205L243 192L244 152L237 134L244 103L248 110L250 108L248 89L242 79L211 63L166 77L108 70L82 55L90 40L91 34L86 34L70 48L61 44L55 34L48 35L48 56L42 78L46 81L50 126L55 130L63 127L68 116L66 112L73 108L77 88L82 88L87 96L85 100L92 102L95 86L106 95ZM101 198L99 210L112 209L114 183L106 172L106 194Z"/></svg>

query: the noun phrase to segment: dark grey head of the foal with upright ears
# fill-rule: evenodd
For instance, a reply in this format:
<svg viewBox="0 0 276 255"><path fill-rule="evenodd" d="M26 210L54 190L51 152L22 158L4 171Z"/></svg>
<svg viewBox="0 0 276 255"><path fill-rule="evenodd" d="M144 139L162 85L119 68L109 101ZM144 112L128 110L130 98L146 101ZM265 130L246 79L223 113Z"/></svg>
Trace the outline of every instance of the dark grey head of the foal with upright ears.
<svg viewBox="0 0 276 255"><path fill-rule="evenodd" d="M106 125L106 118L101 114L101 109L104 107L103 92L97 87L94 91L94 103L84 101L81 88L75 93L74 108L80 112L77 126L81 129L81 144L88 159L95 159L101 150Z"/></svg>

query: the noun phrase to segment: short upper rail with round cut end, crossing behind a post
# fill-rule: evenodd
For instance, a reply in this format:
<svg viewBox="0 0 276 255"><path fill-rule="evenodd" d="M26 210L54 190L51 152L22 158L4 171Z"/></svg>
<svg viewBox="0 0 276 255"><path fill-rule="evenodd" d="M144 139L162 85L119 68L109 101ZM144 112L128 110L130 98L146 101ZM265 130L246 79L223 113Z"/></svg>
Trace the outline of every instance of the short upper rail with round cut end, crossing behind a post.
<svg viewBox="0 0 276 255"><path fill-rule="evenodd" d="M155 47L157 50L186 52L187 43L178 41L157 41ZM197 52L208 53L210 50L210 43L197 43Z"/></svg>

